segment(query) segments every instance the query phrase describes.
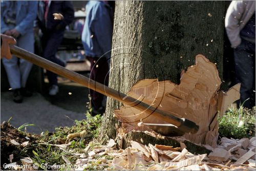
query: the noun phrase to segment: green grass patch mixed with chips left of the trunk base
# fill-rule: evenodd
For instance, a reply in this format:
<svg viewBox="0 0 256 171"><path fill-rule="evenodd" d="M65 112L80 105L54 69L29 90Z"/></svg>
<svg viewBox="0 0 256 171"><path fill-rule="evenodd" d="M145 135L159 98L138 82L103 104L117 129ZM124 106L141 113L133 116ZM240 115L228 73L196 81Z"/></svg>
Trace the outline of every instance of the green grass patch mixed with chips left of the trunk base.
<svg viewBox="0 0 256 171"><path fill-rule="evenodd" d="M54 133L50 133L48 131L42 133L36 141L31 142L26 148L20 149L19 156L30 157L33 162L37 163L39 166L42 163L48 163L49 165L63 165L66 163L63 157L67 158L71 163L75 163L79 158L79 155L75 155L74 153L83 154L84 148L86 148L88 144L90 144L92 148L95 145L99 145L96 138L99 135L101 115L92 116L91 110L89 110L86 113L86 116L87 119L75 120L75 125L72 127L58 127L55 128ZM24 124L18 128L18 131L22 132L22 130L27 126L31 125ZM67 138L69 134L79 133L81 131L86 131L86 134L73 139ZM54 146L55 144L67 143L70 145L64 150ZM91 169L95 167L93 163L89 166ZM47 168L40 167L39 169L47 170Z"/></svg>

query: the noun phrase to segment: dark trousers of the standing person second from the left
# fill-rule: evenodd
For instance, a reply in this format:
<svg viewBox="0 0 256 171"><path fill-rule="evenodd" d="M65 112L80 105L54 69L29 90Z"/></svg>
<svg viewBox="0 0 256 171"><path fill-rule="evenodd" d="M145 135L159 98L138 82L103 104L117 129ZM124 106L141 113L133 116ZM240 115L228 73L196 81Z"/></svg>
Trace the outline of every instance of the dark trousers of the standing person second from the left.
<svg viewBox="0 0 256 171"><path fill-rule="evenodd" d="M42 35L43 57L51 62L65 66L65 63L56 58L58 46L63 39L64 31L46 32ZM50 85L57 85L57 75L47 70L47 77Z"/></svg>

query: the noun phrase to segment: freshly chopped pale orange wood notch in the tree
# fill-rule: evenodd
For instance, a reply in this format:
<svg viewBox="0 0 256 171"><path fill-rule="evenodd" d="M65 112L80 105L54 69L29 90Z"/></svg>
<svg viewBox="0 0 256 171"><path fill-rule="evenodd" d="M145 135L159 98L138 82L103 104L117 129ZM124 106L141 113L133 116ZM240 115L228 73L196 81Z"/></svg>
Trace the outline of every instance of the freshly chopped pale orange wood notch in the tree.
<svg viewBox="0 0 256 171"><path fill-rule="evenodd" d="M218 109L223 115L226 108L240 98L240 84L233 86L226 93L219 92L221 80L217 67L203 55L196 56L196 65L182 71L179 85L170 81L145 79L135 84L127 95L140 99L164 112L172 111L179 118L186 118L199 125L196 134L186 133L184 137L198 144L217 145ZM233 93L235 92L235 93ZM143 123L168 124L166 118L148 115L145 111L124 104L115 110L114 116L122 122L122 133L131 130L153 131L147 125L138 127L138 120Z"/></svg>

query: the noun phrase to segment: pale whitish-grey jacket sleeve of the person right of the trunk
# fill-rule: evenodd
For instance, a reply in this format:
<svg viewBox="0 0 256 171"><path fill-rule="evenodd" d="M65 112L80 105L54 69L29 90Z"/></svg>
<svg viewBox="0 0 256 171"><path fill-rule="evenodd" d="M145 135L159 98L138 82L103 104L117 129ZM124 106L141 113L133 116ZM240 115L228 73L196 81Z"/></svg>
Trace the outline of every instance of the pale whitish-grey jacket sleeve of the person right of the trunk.
<svg viewBox="0 0 256 171"><path fill-rule="evenodd" d="M225 17L225 28L231 47L237 47L241 43L239 25L245 10L243 1L232 1Z"/></svg>

